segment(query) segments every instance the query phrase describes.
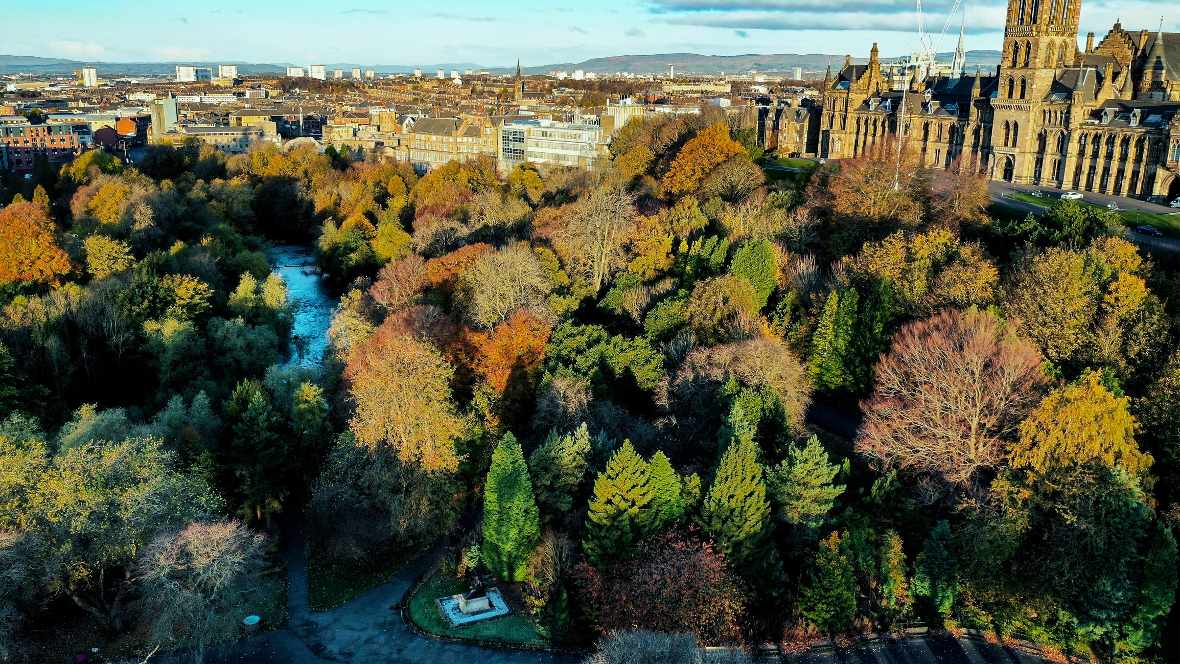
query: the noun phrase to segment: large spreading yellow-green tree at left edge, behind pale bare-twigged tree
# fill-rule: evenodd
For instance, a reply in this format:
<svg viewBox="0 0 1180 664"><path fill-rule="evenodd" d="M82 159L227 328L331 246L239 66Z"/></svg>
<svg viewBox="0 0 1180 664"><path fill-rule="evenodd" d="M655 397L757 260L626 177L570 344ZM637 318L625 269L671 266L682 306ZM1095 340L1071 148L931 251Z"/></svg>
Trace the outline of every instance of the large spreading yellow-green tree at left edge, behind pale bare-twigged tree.
<svg viewBox="0 0 1180 664"><path fill-rule="evenodd" d="M104 629L122 631L136 555L156 535L208 519L221 500L176 469L159 441L127 439L50 454L37 441L0 438L0 528L45 546L46 589Z"/></svg>

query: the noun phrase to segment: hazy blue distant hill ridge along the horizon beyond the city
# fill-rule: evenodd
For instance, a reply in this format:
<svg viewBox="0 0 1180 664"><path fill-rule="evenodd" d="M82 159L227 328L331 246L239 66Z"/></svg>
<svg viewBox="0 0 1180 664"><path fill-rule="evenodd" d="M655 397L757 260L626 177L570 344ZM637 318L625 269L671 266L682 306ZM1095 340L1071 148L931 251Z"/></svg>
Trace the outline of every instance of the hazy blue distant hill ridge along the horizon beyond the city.
<svg viewBox="0 0 1180 664"><path fill-rule="evenodd" d="M939 61L950 61L952 53L939 53ZM898 58L881 58L883 61L893 61ZM867 58L853 58L853 64L863 65ZM214 63L104 63L104 61L80 61L66 60L61 58L39 58L35 55L0 55L0 73L35 73L42 75L72 74L74 70L85 66L98 68L100 77L112 75L171 75L176 73L176 65L195 65L198 67L214 67L217 65L236 64L238 73L242 74L281 74L287 72L288 63L277 64L253 64L231 63L227 60ZM982 66L995 67L999 64L999 51L968 51L968 67ZM844 66L844 55L828 55L824 53L776 53L776 54L746 54L746 55L701 55L697 53L657 53L654 55L611 55L609 58L594 58L582 63L560 63L538 67L523 67L525 74L548 74L551 71L583 70L586 72L631 72L636 74L655 74L668 71L668 65L676 67L677 73L720 74L742 73L750 70L766 72L776 70L789 72L794 67L801 67L805 72L824 71L828 65L832 71L839 71ZM356 63L324 64L332 70L345 70L346 72L358 67L361 70L374 70L376 73L413 73L415 68L421 68L426 75L433 75L437 70L444 70L447 74L452 70L458 70L463 74L466 70L485 70L493 73L513 73L514 66L487 67L476 63L442 63L433 65L363 65Z"/></svg>

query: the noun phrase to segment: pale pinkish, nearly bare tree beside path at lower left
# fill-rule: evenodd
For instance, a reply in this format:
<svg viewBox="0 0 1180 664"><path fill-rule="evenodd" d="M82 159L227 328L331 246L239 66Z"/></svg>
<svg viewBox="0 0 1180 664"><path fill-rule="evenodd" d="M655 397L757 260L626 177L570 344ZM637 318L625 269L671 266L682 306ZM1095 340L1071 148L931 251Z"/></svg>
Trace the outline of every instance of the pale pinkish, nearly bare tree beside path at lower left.
<svg viewBox="0 0 1180 664"><path fill-rule="evenodd" d="M237 636L243 616L262 598L267 538L237 521L189 524L162 533L136 560L151 640L191 647L196 662L205 646Z"/></svg>

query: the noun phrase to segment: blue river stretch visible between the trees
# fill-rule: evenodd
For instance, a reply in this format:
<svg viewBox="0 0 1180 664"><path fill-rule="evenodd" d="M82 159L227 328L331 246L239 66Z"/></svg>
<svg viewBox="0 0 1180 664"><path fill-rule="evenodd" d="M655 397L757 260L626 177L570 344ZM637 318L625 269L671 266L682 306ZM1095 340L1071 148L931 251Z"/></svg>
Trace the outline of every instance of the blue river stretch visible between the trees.
<svg viewBox="0 0 1180 664"><path fill-rule="evenodd" d="M295 349L289 364L319 367L328 348L328 327L337 298L323 283L310 245L281 245L270 251L274 271L287 282L287 298L295 309Z"/></svg>

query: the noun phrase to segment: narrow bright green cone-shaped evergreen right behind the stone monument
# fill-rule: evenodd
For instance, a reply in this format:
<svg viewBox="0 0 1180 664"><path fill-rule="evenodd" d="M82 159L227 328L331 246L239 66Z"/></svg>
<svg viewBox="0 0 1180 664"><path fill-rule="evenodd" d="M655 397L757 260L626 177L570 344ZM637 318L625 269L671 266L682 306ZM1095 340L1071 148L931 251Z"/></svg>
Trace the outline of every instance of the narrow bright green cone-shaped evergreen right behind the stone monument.
<svg viewBox="0 0 1180 664"><path fill-rule="evenodd" d="M484 563L506 581L524 578L529 554L540 538L537 500L520 443L504 434L492 452L484 486Z"/></svg>

